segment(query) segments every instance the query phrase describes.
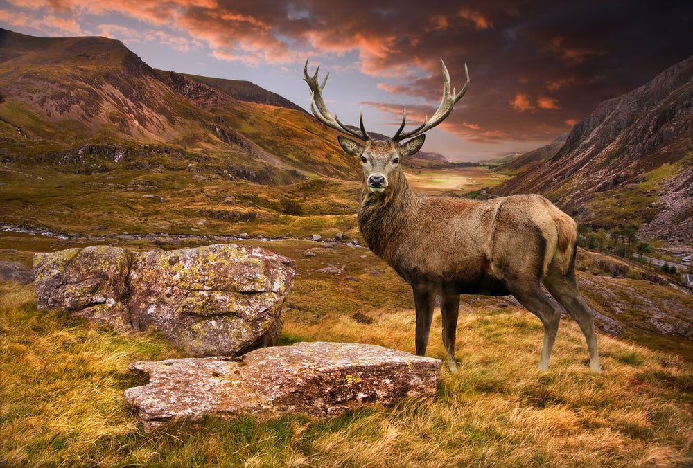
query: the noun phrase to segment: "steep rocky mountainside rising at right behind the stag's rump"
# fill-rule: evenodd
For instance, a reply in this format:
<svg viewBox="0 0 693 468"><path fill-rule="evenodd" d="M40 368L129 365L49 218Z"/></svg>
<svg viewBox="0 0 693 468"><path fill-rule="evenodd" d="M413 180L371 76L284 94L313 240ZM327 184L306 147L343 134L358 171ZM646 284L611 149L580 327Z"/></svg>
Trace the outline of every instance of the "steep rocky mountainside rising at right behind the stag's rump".
<svg viewBox="0 0 693 468"><path fill-rule="evenodd" d="M606 100L554 142L504 166L495 192L543 193L578 222L690 244L693 232L693 57Z"/></svg>

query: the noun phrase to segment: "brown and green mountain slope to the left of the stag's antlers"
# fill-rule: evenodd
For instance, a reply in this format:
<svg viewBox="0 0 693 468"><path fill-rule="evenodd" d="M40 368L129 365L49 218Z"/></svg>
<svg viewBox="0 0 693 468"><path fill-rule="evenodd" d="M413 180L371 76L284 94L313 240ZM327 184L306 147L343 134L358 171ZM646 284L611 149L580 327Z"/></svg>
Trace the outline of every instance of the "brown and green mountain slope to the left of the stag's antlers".
<svg viewBox="0 0 693 468"><path fill-rule="evenodd" d="M299 80L297 73L297 80ZM259 183L311 174L356 180L336 133L252 83L152 69L105 37L32 37L0 30L0 159L81 161L177 154Z"/></svg>

